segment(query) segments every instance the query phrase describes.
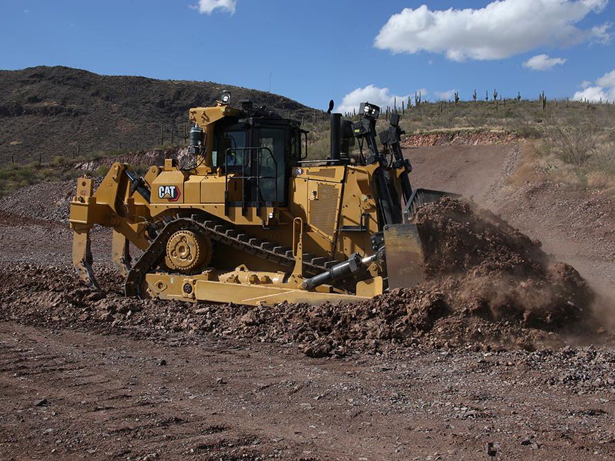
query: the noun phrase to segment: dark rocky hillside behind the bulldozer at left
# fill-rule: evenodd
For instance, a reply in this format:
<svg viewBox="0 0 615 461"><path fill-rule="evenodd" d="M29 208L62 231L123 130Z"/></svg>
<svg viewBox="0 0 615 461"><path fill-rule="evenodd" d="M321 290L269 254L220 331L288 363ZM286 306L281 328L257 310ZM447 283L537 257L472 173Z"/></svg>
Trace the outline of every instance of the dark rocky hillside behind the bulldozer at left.
<svg viewBox="0 0 615 461"><path fill-rule="evenodd" d="M111 149L147 149L184 140L188 109L221 91L301 118L286 97L213 82L97 75L67 67L0 70L0 161L24 163Z"/></svg>

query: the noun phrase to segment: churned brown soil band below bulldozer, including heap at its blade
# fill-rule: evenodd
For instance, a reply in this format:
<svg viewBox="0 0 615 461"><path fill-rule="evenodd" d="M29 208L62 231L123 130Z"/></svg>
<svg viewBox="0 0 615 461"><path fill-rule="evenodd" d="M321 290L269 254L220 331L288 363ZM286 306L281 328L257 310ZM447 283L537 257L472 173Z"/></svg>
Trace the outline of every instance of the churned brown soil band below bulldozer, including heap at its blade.
<svg viewBox="0 0 615 461"><path fill-rule="evenodd" d="M590 326L592 291L569 265L493 214L446 198L423 207L426 280L353 305L192 305L122 297L113 270L104 293L68 267L0 266L1 315L32 323L209 333L294 344L312 357L399 347L536 348ZM582 328L582 329L583 329ZM573 331L574 329L574 331Z"/></svg>

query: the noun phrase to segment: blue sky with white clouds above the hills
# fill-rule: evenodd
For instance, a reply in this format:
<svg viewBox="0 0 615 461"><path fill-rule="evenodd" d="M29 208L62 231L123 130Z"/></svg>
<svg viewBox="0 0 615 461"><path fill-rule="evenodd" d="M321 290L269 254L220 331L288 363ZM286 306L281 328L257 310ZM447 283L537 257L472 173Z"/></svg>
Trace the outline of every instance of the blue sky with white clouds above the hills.
<svg viewBox="0 0 615 461"><path fill-rule="evenodd" d="M64 65L265 91L271 75L272 92L320 108L330 98L383 104L419 88L430 100L452 90L469 99L475 88L615 99L610 23L608 0L5 0L0 68Z"/></svg>

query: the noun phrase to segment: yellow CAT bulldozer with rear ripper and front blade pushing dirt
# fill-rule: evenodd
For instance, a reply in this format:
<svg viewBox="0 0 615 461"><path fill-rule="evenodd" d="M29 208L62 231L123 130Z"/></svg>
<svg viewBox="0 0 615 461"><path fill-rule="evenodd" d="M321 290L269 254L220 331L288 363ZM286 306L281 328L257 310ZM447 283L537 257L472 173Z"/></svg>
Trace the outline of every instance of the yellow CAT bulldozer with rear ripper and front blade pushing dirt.
<svg viewBox="0 0 615 461"><path fill-rule="evenodd" d="M446 195L413 190L399 117L376 133L380 109L358 121L329 108L331 148L308 159L308 131L249 100L190 109L183 160L140 177L115 163L70 203L73 263L97 285L90 231L113 228L126 296L182 301L357 301L422 279L417 207ZM138 258L131 257L131 245Z"/></svg>

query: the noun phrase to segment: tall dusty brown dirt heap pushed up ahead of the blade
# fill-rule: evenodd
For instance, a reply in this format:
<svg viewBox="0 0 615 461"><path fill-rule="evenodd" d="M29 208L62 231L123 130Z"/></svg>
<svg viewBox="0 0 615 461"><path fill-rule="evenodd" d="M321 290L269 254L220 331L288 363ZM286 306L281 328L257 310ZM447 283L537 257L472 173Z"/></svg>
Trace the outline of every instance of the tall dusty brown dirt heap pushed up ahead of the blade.
<svg viewBox="0 0 615 461"><path fill-rule="evenodd" d="M551 330L588 317L594 294L574 267L553 263L540 242L490 211L444 198L419 210L417 226L426 285L462 309Z"/></svg>

